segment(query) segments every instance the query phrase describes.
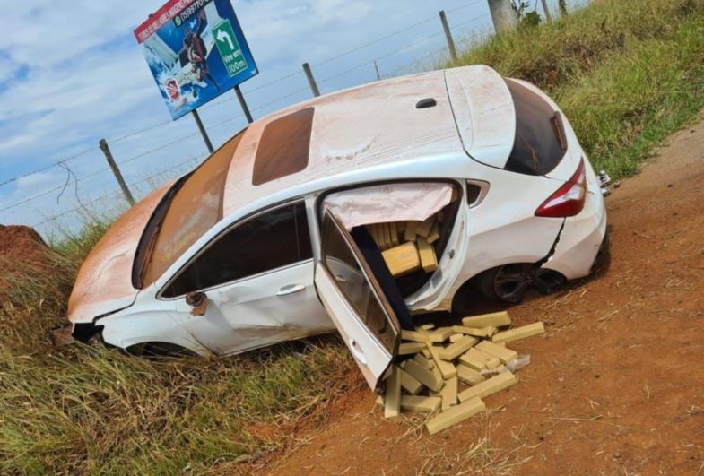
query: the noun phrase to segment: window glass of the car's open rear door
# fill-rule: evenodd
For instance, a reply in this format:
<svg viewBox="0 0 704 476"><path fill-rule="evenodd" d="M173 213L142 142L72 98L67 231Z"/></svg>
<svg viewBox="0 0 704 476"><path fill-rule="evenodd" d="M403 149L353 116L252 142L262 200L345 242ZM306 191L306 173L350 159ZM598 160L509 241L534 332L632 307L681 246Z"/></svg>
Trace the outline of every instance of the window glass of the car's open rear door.
<svg viewBox="0 0 704 476"><path fill-rule="evenodd" d="M352 243L352 238L349 239ZM323 223L323 263L335 280L344 297L354 307L361 321L388 351L393 352L398 335L396 326L381 307L374 290L369 285L343 231L326 215ZM369 274L369 273L368 273Z"/></svg>

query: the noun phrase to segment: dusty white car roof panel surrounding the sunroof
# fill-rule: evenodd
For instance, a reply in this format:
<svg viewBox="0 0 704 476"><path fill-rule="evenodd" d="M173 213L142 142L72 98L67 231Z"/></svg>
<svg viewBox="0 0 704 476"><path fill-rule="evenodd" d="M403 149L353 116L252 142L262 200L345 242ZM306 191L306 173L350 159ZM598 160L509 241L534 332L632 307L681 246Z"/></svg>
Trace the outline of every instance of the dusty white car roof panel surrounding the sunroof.
<svg viewBox="0 0 704 476"><path fill-rule="evenodd" d="M432 98L435 107L416 108ZM256 152L265 127L314 108L305 169L253 185ZM462 151L445 72L414 74L336 92L257 120L234 152L222 199L223 216L268 195L351 169Z"/></svg>

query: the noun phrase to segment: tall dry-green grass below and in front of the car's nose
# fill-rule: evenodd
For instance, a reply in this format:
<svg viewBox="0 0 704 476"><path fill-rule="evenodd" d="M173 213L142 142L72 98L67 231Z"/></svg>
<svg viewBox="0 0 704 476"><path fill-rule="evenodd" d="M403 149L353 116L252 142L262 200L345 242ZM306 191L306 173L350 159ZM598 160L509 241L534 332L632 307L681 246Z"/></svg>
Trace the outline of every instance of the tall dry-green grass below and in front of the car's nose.
<svg viewBox="0 0 704 476"><path fill-rule="evenodd" d="M51 269L25 266L4 280L0 473L232 472L285 444L257 428L315 424L326 402L361 383L345 378L354 364L334 338L231 359L53 349L48 330L63 324L77 267L104 229L87 226L57 244Z"/></svg>

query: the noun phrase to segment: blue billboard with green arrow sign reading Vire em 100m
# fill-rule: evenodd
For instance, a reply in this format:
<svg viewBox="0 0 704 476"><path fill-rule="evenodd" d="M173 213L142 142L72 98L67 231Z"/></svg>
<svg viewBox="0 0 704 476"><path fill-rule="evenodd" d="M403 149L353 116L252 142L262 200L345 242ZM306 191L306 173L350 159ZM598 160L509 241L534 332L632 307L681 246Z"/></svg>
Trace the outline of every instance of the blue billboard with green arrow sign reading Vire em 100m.
<svg viewBox="0 0 704 476"><path fill-rule="evenodd" d="M230 0L170 0L135 38L174 120L258 73Z"/></svg>

